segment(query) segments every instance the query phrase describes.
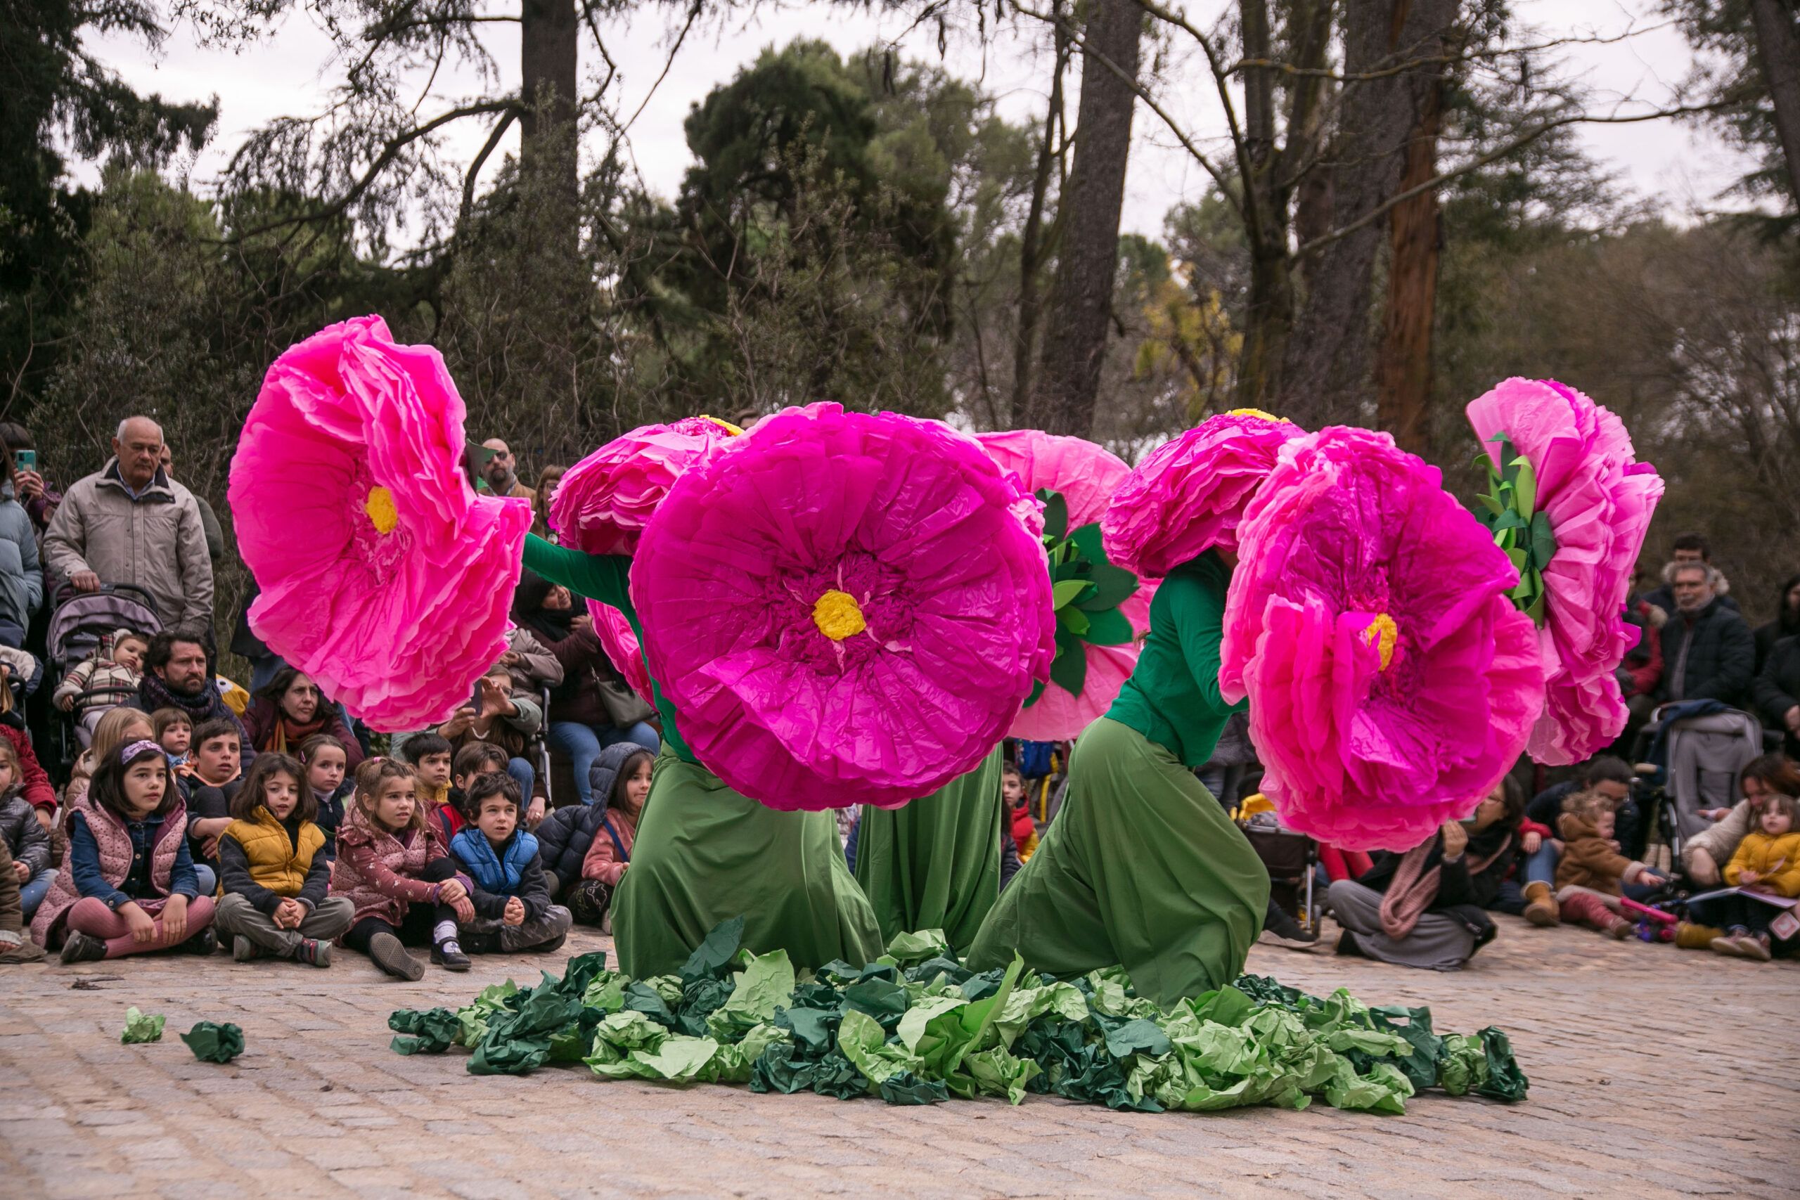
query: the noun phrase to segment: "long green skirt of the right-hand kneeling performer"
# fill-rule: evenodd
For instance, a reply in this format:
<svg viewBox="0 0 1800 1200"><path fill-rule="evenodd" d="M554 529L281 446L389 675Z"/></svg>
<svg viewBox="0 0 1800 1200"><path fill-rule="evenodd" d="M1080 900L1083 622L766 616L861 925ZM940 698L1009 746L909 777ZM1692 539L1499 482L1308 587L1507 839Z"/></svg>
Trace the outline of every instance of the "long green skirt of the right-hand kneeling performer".
<svg viewBox="0 0 1800 1200"><path fill-rule="evenodd" d="M968 966L1055 975L1123 966L1168 1007L1244 970L1269 873L1174 754L1100 718L1075 743L1069 790L1037 853L976 936Z"/></svg>

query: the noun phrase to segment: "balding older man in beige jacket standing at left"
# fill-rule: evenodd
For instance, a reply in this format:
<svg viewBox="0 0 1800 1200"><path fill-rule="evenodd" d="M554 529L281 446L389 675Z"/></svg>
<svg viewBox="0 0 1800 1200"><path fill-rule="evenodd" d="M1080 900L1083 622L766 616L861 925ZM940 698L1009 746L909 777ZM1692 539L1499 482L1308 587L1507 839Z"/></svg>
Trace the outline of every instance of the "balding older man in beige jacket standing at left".
<svg viewBox="0 0 1800 1200"><path fill-rule="evenodd" d="M212 626L212 558L200 504L162 470L162 426L149 417L119 423L113 457L63 497L43 554L81 592L103 583L144 588L164 628Z"/></svg>

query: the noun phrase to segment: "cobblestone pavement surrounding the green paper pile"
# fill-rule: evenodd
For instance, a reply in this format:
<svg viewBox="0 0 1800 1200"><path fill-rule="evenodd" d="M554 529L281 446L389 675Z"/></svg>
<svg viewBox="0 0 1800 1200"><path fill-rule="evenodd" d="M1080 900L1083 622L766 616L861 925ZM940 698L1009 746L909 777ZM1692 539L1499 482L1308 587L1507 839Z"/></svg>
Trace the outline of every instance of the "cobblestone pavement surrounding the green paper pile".
<svg viewBox="0 0 1800 1200"><path fill-rule="evenodd" d="M1800 964L1499 919L1453 975L1327 948L1251 957L1309 991L1512 1034L1526 1103L1427 1094L1404 1117L1037 1096L893 1108L585 1069L473 1078L459 1051L387 1049L391 1009L455 1006L560 955L419 984L349 954L329 972L225 955L0 968L0 1196L1800 1195ZM585 936L569 952L607 946ZM167 1013L160 1043L119 1043L130 1004ZM196 1061L176 1033L202 1018L243 1025L245 1054Z"/></svg>

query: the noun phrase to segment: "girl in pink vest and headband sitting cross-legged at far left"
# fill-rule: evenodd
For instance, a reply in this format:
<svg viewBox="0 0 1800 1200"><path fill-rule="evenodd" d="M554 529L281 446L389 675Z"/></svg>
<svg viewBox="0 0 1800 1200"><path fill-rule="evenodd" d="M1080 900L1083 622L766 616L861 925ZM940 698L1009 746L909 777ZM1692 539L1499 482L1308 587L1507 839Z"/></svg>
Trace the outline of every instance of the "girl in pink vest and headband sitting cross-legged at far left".
<svg viewBox="0 0 1800 1200"><path fill-rule="evenodd" d="M68 817L68 862L31 923L63 963L182 946L212 954L212 898L187 856L182 793L148 738L108 754Z"/></svg>

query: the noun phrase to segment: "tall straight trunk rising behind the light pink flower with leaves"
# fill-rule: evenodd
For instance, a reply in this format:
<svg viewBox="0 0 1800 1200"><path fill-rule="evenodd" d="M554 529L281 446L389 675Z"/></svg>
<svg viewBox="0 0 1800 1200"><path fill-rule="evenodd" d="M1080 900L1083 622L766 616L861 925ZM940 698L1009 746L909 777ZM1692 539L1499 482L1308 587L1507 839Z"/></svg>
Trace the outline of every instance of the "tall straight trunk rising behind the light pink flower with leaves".
<svg viewBox="0 0 1800 1200"><path fill-rule="evenodd" d="M1138 103L1130 85L1100 58L1136 79L1141 32L1143 9L1134 0L1094 0L1082 54L1075 169L1062 196L1067 223L1044 322L1035 405L1042 428L1051 434L1087 437L1094 426L1112 281L1118 275L1130 119Z"/></svg>

